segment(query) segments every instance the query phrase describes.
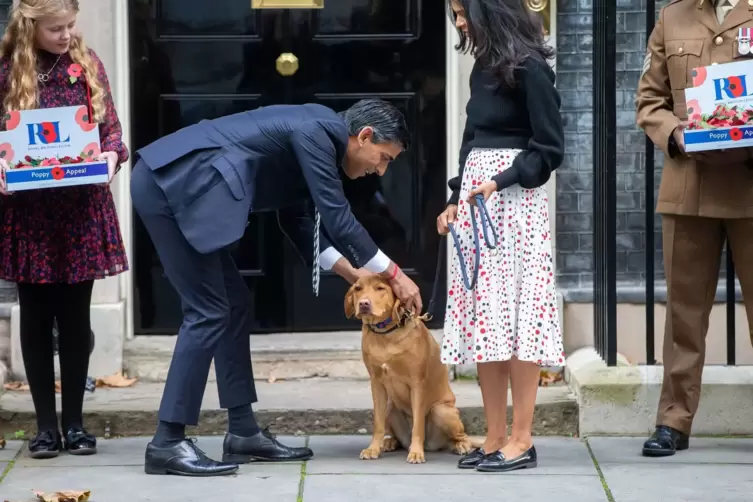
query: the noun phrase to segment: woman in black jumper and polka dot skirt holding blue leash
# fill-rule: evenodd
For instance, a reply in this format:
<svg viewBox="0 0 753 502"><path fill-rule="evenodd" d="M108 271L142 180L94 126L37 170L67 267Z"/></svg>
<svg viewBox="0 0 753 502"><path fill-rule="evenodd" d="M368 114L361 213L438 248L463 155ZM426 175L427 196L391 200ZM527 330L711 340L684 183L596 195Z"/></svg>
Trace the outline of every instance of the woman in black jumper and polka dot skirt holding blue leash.
<svg viewBox="0 0 753 502"><path fill-rule="evenodd" d="M488 424L482 448L459 467L505 472L537 464L531 429L541 366L564 362L555 297L547 191L563 158L564 132L553 50L542 26L519 0L449 0L460 34L458 49L476 59L452 197L437 219L440 234L452 224L462 260L452 256L442 343L446 364L478 366ZM482 195L497 246L486 244ZM475 254L471 212L478 222ZM489 244L494 238L488 232ZM478 280L464 284L478 260ZM507 389L513 425L507 435Z"/></svg>

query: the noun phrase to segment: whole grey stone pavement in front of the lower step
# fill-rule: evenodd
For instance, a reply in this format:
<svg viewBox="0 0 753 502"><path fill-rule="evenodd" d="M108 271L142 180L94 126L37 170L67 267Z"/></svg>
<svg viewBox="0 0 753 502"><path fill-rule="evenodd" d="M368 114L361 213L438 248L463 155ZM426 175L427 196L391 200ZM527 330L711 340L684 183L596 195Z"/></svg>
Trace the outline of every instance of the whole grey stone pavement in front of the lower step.
<svg viewBox="0 0 753 502"><path fill-rule="evenodd" d="M285 437L308 444L315 458L298 464L253 464L236 476L187 479L143 473L147 438L100 440L91 457L61 455L38 461L25 444L0 450L5 477L0 501L31 502L32 490L91 490L91 502L457 502L524 500L578 502L707 502L753 500L753 439L691 439L691 449L664 459L638 453L643 438L538 437L539 467L509 474L459 471L448 453L423 465L406 452L376 461L358 459L369 437ZM198 445L219 457L221 437Z"/></svg>

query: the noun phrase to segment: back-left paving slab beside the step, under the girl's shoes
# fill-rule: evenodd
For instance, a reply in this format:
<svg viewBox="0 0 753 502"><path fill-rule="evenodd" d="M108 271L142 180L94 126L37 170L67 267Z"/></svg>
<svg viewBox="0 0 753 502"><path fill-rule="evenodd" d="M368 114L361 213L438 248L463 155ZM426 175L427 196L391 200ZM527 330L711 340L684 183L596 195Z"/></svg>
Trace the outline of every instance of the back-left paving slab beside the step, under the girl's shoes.
<svg viewBox="0 0 753 502"><path fill-rule="evenodd" d="M220 460L222 458L222 436L200 437L196 439L196 446L201 448L209 457ZM305 446L305 437L285 437L278 439L288 446ZM144 451L150 437L99 439L97 440L97 454L76 456L61 453L51 459L33 459L29 451L24 448L16 465L19 467L106 467L106 466L143 466Z"/></svg>

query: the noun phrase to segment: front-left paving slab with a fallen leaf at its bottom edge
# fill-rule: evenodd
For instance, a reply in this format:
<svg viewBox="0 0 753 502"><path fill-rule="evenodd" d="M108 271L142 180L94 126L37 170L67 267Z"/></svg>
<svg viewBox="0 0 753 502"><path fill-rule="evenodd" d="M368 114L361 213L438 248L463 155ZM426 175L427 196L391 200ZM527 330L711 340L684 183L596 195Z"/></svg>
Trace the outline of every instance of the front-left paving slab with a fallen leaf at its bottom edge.
<svg viewBox="0 0 753 502"><path fill-rule="evenodd" d="M39 502L32 490L91 490L90 502L296 502L300 465L245 465L234 476L148 476L141 466L14 467L0 484L0 500Z"/></svg>

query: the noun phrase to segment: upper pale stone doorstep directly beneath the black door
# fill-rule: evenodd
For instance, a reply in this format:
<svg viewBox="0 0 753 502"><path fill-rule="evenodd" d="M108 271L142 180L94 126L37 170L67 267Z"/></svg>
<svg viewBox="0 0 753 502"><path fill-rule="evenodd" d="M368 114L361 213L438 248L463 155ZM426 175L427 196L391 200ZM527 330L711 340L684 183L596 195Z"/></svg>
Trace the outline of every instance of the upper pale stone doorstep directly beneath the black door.
<svg viewBox="0 0 753 502"><path fill-rule="evenodd" d="M175 336L136 336L125 343L124 370L130 377L164 382ZM361 332L280 333L251 337L257 380L342 378L368 380L361 359ZM210 381L215 381L214 365Z"/></svg>

